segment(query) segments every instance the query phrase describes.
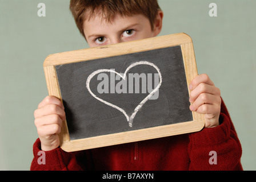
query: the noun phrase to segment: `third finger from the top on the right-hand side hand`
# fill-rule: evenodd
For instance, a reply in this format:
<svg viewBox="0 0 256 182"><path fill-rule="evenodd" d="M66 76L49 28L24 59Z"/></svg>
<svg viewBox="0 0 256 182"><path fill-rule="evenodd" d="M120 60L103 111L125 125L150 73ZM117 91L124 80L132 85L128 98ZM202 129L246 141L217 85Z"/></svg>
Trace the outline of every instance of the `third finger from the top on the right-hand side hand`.
<svg viewBox="0 0 256 182"><path fill-rule="evenodd" d="M198 98L190 105L191 111L197 111L198 108L202 105L215 105L219 106L221 102L221 98L218 96L214 96L209 93L202 93L198 96ZM203 109L205 109L203 107ZM210 114L210 113L207 113Z"/></svg>

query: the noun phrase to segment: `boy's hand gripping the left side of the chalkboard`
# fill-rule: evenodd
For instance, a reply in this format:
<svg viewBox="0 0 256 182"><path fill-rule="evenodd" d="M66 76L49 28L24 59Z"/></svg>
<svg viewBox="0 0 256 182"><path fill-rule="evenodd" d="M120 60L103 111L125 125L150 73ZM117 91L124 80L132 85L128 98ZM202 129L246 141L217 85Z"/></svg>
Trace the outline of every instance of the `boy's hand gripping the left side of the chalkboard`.
<svg viewBox="0 0 256 182"><path fill-rule="evenodd" d="M47 96L34 111L35 126L41 140L41 150L49 151L59 146L58 134L61 132L65 111L62 102L53 96Z"/></svg>

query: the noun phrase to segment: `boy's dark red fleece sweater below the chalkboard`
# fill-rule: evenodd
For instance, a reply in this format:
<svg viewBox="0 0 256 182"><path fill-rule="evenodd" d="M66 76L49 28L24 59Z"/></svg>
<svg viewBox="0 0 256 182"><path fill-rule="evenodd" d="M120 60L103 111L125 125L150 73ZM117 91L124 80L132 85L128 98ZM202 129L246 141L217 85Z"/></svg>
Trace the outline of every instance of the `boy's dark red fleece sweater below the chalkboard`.
<svg viewBox="0 0 256 182"><path fill-rule="evenodd" d="M222 102L220 125L197 133L65 152L55 148L41 160L41 142L33 146L31 170L242 170L242 148ZM215 151L217 164L210 164ZM39 153L38 153L39 152ZM210 159L211 158L211 159Z"/></svg>

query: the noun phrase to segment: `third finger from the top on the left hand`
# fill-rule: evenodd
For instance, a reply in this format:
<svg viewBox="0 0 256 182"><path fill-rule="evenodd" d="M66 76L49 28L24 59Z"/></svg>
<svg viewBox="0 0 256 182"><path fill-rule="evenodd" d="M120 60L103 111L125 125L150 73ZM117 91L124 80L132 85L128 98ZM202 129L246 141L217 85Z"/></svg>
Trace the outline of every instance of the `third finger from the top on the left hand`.
<svg viewBox="0 0 256 182"><path fill-rule="evenodd" d="M62 127L62 119L57 114L46 115L45 117L40 117L35 119L35 126L41 127L44 125L54 125L57 124Z"/></svg>

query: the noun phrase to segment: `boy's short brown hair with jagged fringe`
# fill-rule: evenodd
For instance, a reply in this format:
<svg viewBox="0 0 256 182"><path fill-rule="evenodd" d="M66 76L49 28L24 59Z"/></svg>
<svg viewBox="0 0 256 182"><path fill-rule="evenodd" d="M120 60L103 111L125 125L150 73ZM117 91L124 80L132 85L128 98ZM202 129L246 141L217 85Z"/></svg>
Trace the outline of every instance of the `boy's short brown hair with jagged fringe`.
<svg viewBox="0 0 256 182"><path fill-rule="evenodd" d="M75 23L81 34L83 33L83 22L101 12L102 19L111 21L116 15L131 16L143 14L149 18L153 30L155 17L160 9L157 0L71 0L70 11L74 16Z"/></svg>

